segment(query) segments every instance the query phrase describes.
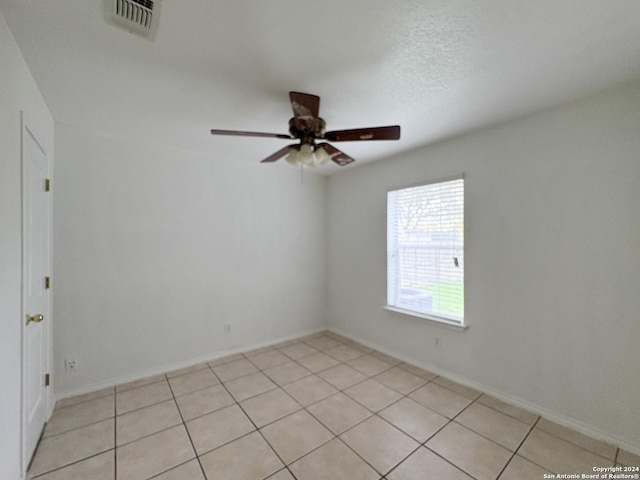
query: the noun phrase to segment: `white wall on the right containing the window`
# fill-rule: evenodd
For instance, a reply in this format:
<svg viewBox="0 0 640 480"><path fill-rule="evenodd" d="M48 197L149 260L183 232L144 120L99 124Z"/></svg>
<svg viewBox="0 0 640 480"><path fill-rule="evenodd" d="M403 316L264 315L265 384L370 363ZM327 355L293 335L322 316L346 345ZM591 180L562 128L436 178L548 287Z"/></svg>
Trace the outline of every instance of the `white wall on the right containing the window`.
<svg viewBox="0 0 640 480"><path fill-rule="evenodd" d="M461 172L466 331L382 309L386 191ZM640 84L332 176L328 219L331 327L640 452Z"/></svg>

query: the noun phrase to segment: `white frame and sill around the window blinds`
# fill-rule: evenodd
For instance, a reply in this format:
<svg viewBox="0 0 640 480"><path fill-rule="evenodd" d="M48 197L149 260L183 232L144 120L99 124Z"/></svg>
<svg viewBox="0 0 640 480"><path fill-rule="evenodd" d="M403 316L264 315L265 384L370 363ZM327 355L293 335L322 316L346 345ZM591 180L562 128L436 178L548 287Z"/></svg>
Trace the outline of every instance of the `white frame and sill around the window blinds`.
<svg viewBox="0 0 640 480"><path fill-rule="evenodd" d="M402 314L404 316L409 316L409 317L414 317L414 318L419 318L419 319L423 319L423 320L428 320L428 321L432 321L432 322L436 322L442 326L447 326L447 327L454 327L455 329L460 329L460 330L465 330L468 328L468 324L467 324L467 319L465 316L465 312L463 309L463 315L460 319L455 319L455 318L449 318L447 316L440 316L434 313L423 313L420 311L416 311L416 310L411 310L411 309L407 309L407 308L402 308L399 307L397 305L391 305L389 304L389 291L390 291L390 283L397 283L398 279L392 279L391 278L391 268L390 268L390 248L389 248L389 201L390 201L390 194L392 192L398 192L401 190L405 190L405 189L410 189L410 188L416 188L416 187L427 187L429 185L435 185L438 183L446 183L446 182L450 182L450 181L455 181L455 180L462 180L463 181L463 187L462 187L462 216L463 216L463 237L462 237L462 250L463 250L463 257L465 255L465 251L466 251L466 242L464 240L464 233L466 230L466 209L465 209L465 200L466 200L466 188L465 188L465 176L464 173L458 174L458 175L453 175L453 176L448 176L448 177L441 177L441 178L436 178L436 179L429 179L426 181L422 181L422 182L418 182L418 183L412 183L412 184L408 184L408 185L401 185L401 186L397 186L397 187L393 187L393 188L389 188L386 191L386 202L387 202L387 206L386 206L386 225L385 225L385 233L386 233L386 251L387 251L387 258L386 258L386 269L387 269L387 274L386 274L386 281L387 281L387 298L386 298L386 303L384 305L384 309L393 312L393 313L398 313L398 314ZM462 275L462 282L463 282L463 287L466 285L466 273L464 271L464 267L463 267L463 275ZM464 290L463 290L464 292ZM466 303L465 302L465 295L463 293L462 296L462 301L463 304ZM397 302L396 302L397 304Z"/></svg>

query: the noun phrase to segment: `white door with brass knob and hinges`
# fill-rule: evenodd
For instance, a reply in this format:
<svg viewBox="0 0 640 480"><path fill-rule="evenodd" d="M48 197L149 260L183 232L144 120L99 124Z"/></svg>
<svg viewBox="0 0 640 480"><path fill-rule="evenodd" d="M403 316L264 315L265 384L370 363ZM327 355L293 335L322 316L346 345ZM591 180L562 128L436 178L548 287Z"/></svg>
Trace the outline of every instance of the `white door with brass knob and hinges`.
<svg viewBox="0 0 640 480"><path fill-rule="evenodd" d="M23 459L29 464L47 416L45 374L50 322L45 277L49 265L47 155L22 129Z"/></svg>

